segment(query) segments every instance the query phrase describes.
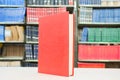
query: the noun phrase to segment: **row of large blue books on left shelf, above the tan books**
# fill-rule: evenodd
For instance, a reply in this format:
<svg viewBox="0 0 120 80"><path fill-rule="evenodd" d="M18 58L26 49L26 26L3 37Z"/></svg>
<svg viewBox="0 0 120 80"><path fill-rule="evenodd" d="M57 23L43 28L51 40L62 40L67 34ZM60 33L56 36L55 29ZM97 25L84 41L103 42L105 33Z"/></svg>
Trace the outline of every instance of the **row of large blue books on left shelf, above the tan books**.
<svg viewBox="0 0 120 80"><path fill-rule="evenodd" d="M25 8L0 8L0 22L23 22Z"/></svg>

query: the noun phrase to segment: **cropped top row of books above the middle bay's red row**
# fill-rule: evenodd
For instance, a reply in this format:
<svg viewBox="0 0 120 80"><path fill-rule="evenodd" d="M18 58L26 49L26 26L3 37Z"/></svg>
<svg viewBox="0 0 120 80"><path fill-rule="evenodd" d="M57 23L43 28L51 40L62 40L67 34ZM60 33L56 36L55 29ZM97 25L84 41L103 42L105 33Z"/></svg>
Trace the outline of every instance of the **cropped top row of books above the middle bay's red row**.
<svg viewBox="0 0 120 80"><path fill-rule="evenodd" d="M28 5L73 5L73 0L27 0Z"/></svg>

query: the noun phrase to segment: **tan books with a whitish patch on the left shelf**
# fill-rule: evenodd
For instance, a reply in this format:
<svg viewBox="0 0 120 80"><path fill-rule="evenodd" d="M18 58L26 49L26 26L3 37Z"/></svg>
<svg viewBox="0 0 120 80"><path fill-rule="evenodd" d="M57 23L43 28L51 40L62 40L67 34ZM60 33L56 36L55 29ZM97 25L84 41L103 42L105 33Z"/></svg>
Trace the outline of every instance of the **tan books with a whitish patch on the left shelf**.
<svg viewBox="0 0 120 80"><path fill-rule="evenodd" d="M23 26L5 26L5 41L24 41Z"/></svg>

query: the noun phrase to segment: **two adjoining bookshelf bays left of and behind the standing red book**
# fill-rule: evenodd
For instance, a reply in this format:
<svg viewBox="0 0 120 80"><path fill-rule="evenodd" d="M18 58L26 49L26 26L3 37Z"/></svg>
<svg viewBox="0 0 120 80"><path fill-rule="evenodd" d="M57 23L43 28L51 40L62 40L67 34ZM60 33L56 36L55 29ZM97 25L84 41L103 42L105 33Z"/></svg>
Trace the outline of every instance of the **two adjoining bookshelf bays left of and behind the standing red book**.
<svg viewBox="0 0 120 80"><path fill-rule="evenodd" d="M31 3L29 4L28 1L30 1ZM36 2L34 1L43 1L44 3L36 4ZM49 1L50 0L15 0L15 1L10 0L10 2L8 2L8 0L2 0L2 2L0 3L0 9L1 9L0 14L3 15L4 13L8 13L8 12L9 14L5 14L6 17L3 17L5 15L0 16L0 26L4 27L3 32L7 31L5 32L4 36L2 35L2 39L4 38L4 40L3 41L0 40L0 45L2 46L0 48L1 64L3 64L2 61L4 62L6 61L5 65L9 64L9 61L19 61L19 62L15 62L15 64L18 63L17 66L36 67L38 63L38 59L37 59L38 35L36 35L38 33L38 18L54 15L65 11L69 11L70 14L72 13L76 14L75 12L76 0L64 0L64 1L59 0L60 2L57 2L57 4L56 3L45 4L46 2L48 3ZM61 3L61 1L63 3ZM10 11L10 9L12 12ZM12 9L15 9L16 11ZM32 13L30 14L30 12L28 12L30 11L30 9L33 13L35 13L34 15L31 15ZM4 11L8 11L8 12L4 12ZM37 14L35 11L37 12ZM38 15L38 13L40 14ZM12 15L16 16L16 18ZM17 15L19 15L19 17ZM6 34L12 33L12 35L13 34L15 36L18 35L16 33L17 32L17 30L15 29L16 27L20 27L22 31L21 33L19 33L19 35L22 34L22 36L20 36L21 40L18 39L19 37L17 37L17 39L16 38L11 39L11 37L9 37L10 35L8 35L8 37L6 38L5 36ZM14 31L12 31L11 28L13 28ZM11 48L11 46L13 48ZM14 55L13 53L16 55Z"/></svg>

